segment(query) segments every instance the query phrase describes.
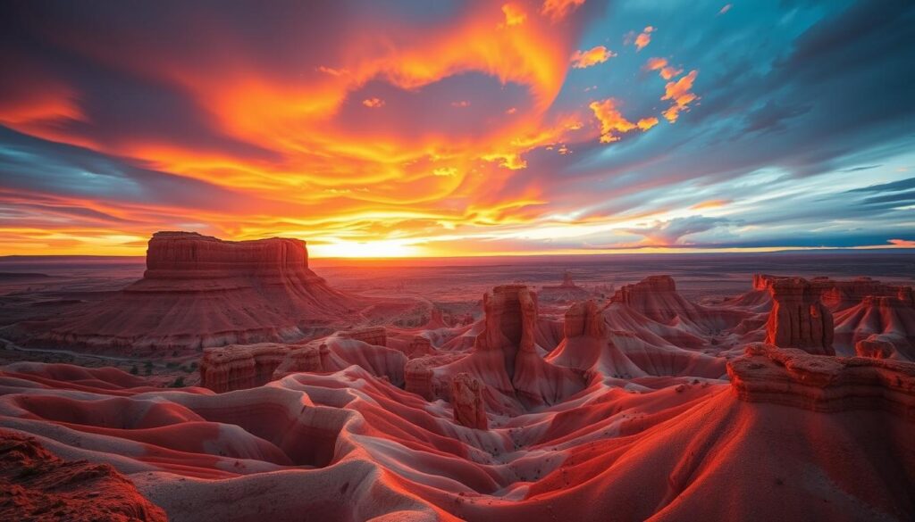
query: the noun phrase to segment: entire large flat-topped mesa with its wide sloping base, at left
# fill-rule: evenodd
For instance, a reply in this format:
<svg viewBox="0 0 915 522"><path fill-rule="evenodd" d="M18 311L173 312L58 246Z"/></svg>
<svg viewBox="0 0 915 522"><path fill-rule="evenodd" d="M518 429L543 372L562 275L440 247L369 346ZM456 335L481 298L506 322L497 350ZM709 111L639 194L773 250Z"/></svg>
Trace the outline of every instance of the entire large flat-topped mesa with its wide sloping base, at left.
<svg viewBox="0 0 915 522"><path fill-rule="evenodd" d="M308 269L304 241L157 232L143 279L31 340L149 351L289 342L326 331L358 306Z"/></svg>

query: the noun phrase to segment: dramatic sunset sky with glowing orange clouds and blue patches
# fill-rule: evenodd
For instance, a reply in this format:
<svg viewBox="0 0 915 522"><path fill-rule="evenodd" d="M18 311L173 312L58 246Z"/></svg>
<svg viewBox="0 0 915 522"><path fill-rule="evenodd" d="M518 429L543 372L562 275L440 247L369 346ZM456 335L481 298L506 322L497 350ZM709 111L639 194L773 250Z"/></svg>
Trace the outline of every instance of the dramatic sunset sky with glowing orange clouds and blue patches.
<svg viewBox="0 0 915 522"><path fill-rule="evenodd" d="M915 247L908 0L10 1L0 255Z"/></svg>

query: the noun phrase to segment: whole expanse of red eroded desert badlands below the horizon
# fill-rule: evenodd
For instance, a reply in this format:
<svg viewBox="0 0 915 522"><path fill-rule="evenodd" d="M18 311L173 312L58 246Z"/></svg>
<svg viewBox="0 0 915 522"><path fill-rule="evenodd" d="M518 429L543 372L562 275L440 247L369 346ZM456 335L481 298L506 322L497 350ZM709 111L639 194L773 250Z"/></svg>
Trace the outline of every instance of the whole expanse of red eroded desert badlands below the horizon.
<svg viewBox="0 0 915 522"><path fill-rule="evenodd" d="M0 519L915 519L905 277L429 297L186 232L133 282L35 266L4 272Z"/></svg>

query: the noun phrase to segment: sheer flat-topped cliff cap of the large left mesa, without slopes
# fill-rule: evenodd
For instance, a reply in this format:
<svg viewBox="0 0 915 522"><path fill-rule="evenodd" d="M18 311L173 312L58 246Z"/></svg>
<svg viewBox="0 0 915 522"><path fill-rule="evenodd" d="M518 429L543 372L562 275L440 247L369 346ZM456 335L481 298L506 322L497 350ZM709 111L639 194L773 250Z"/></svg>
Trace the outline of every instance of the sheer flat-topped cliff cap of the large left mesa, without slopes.
<svg viewBox="0 0 915 522"><path fill-rule="evenodd" d="M156 232L146 250L144 279L280 274L316 277L308 270L305 241L289 238L226 241L196 232Z"/></svg>

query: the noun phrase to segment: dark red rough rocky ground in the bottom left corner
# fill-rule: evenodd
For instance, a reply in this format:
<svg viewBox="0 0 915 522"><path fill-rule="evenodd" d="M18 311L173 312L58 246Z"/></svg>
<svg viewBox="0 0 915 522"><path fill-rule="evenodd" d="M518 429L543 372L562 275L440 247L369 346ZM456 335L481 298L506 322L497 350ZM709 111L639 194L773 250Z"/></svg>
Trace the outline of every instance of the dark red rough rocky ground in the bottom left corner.
<svg viewBox="0 0 915 522"><path fill-rule="evenodd" d="M34 438L0 431L0 519L166 522L109 464L65 462Z"/></svg>

